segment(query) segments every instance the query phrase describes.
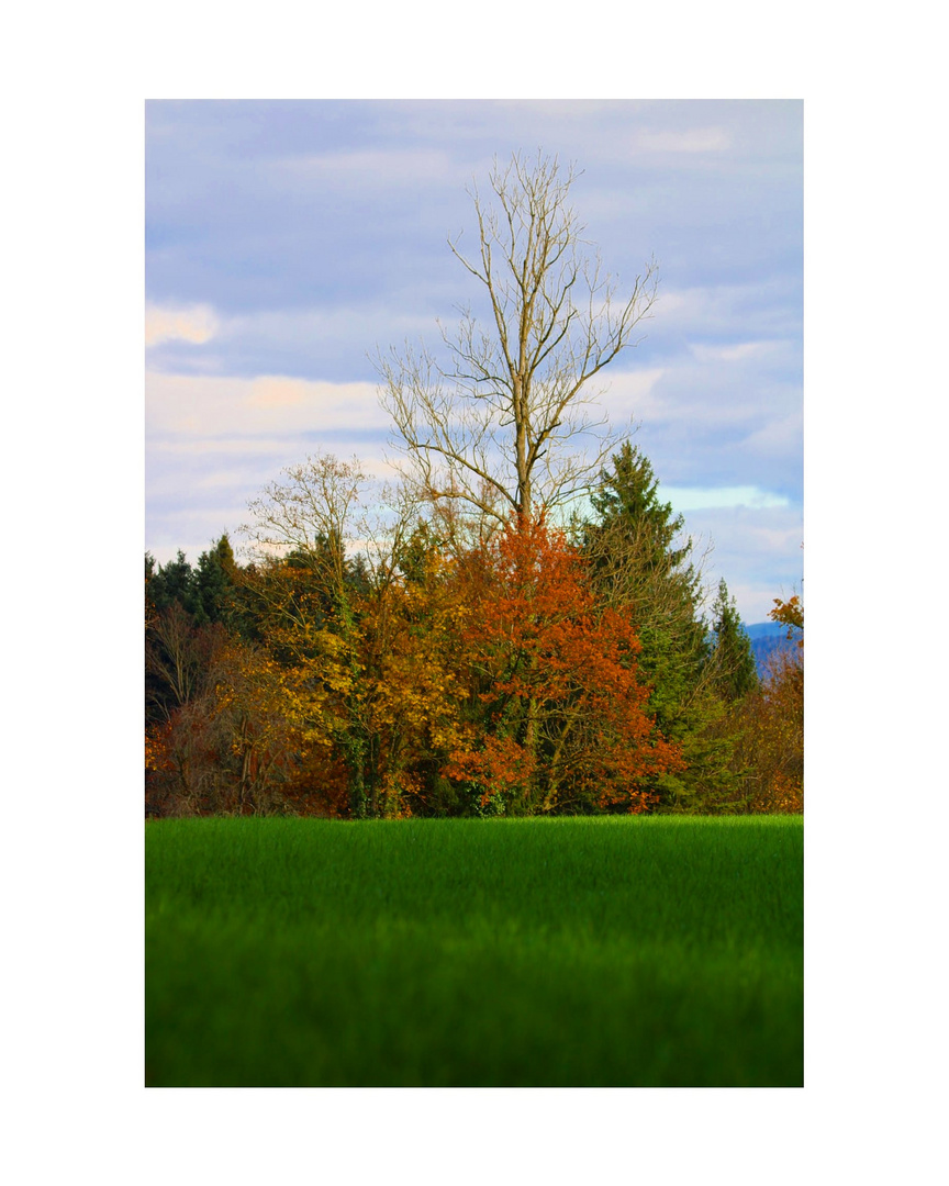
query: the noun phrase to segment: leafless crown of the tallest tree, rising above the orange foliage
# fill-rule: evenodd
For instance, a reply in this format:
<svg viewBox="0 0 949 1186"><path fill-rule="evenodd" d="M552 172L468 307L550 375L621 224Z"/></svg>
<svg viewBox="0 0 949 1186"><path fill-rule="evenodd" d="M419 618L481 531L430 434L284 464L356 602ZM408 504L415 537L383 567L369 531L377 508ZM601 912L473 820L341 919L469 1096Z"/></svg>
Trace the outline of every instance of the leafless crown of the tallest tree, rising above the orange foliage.
<svg viewBox="0 0 949 1186"><path fill-rule="evenodd" d="M394 444L431 500L461 500L495 519L530 515L585 490L616 446L587 384L636 345L656 300L656 264L618 295L568 204L574 179L572 166L563 174L540 152L496 160L489 199L469 191L473 257L460 235L448 241L484 287L486 324L464 307L453 333L440 326L445 364L408 343L376 359Z"/></svg>

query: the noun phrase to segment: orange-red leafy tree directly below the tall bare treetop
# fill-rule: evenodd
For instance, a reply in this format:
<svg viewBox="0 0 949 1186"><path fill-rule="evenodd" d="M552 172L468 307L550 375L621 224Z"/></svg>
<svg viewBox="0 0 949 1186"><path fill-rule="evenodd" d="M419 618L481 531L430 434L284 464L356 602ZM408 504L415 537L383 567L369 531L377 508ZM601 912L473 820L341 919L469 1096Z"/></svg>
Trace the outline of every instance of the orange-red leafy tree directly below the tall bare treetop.
<svg viewBox="0 0 949 1186"><path fill-rule="evenodd" d="M643 811L642 784L682 769L645 712L636 632L595 605L581 567L561 531L516 517L457 566L470 709L445 773L484 806Z"/></svg>

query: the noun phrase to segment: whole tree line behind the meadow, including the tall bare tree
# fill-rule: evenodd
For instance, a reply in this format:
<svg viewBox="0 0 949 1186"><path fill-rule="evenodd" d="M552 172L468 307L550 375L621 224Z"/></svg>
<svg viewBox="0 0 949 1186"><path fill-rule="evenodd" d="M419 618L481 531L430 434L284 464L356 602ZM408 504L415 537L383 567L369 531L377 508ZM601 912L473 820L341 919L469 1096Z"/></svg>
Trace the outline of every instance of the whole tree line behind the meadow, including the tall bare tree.
<svg viewBox="0 0 949 1186"><path fill-rule="evenodd" d="M590 410L655 264L618 295L555 159L489 181L472 255L451 241L482 315L377 358L400 485L320 453L250 504L244 563L227 535L196 567L146 554L149 814L801 810L802 649L758 680ZM797 598L772 617L801 633Z"/></svg>

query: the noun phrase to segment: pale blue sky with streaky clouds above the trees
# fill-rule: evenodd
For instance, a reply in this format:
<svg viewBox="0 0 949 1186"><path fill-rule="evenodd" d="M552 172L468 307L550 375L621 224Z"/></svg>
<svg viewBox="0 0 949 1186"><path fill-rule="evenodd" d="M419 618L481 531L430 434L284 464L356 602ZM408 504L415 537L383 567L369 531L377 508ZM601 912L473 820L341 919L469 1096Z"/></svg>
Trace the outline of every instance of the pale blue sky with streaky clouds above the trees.
<svg viewBox="0 0 949 1186"><path fill-rule="evenodd" d="M803 570L803 104L152 101L146 104L146 549L197 561L307 454L387 471L376 349L458 319L472 183L495 157L579 172L585 238L660 299L598 380L613 428L745 621ZM472 287L474 286L474 287Z"/></svg>

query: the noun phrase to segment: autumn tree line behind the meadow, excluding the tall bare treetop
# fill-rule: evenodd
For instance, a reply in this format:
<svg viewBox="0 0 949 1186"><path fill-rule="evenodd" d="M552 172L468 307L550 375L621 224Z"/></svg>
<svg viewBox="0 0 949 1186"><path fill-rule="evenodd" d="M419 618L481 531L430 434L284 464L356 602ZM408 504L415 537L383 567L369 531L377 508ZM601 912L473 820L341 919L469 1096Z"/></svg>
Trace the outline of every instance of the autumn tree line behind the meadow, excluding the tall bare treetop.
<svg viewBox="0 0 949 1186"><path fill-rule="evenodd" d="M146 555L149 814L801 809L802 651L759 681L724 581L705 617L637 448L566 528L389 508L369 544L368 491L311 458L255 503L253 561ZM772 617L801 635L797 598Z"/></svg>

